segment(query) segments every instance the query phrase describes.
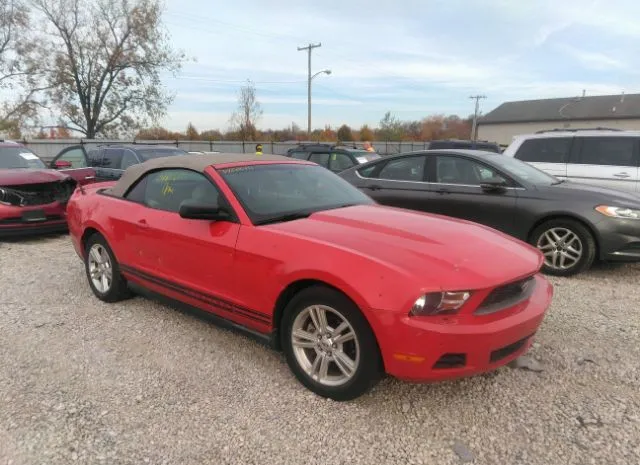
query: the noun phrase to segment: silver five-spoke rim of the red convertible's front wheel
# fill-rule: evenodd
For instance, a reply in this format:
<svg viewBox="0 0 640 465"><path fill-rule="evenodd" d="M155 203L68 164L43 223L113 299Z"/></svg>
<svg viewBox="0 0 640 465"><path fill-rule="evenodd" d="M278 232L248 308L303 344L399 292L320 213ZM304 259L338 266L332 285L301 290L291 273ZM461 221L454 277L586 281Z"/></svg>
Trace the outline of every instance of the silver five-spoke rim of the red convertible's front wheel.
<svg viewBox="0 0 640 465"><path fill-rule="evenodd" d="M324 386L342 386L358 370L358 337L334 308L313 305L302 310L293 322L291 344L300 367Z"/></svg>

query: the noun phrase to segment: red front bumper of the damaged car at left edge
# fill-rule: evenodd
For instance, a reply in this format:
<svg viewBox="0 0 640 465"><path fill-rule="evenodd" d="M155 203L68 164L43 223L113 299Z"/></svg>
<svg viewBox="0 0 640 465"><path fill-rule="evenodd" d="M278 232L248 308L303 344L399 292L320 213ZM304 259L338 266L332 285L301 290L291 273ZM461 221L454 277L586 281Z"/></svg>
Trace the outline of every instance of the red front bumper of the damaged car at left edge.
<svg viewBox="0 0 640 465"><path fill-rule="evenodd" d="M44 219L38 221L25 220L25 212L40 212ZM66 232L67 230L65 207L59 202L33 207L0 205L0 237L51 234Z"/></svg>

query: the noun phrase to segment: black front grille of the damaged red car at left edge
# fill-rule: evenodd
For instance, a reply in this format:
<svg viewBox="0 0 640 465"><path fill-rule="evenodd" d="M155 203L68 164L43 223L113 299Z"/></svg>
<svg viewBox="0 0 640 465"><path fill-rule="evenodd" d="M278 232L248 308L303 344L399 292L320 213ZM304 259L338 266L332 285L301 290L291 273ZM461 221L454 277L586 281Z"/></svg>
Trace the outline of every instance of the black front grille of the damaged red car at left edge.
<svg viewBox="0 0 640 465"><path fill-rule="evenodd" d="M17 207L47 205L56 201L67 203L75 187L76 182L73 179L21 186L0 186L0 201Z"/></svg>

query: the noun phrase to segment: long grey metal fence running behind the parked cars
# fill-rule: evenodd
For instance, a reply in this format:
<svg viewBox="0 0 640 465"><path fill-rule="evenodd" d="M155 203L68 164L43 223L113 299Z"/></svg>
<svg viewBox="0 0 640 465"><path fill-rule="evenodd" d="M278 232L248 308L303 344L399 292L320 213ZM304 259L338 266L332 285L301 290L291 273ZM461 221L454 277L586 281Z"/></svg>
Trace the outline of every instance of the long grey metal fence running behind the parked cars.
<svg viewBox="0 0 640 465"><path fill-rule="evenodd" d="M20 141L40 158L45 161L52 160L62 149L72 145L104 145L104 144L153 144L170 145L186 151L209 151L225 153L253 153L256 144L262 144L263 152L275 155L284 155L288 149L295 147L299 142L243 142L243 141L190 141L190 140L105 140L105 139L33 139ZM362 148L362 142L349 143ZM380 155L392 155L395 153L423 150L428 142L387 142L373 141L373 147Z"/></svg>

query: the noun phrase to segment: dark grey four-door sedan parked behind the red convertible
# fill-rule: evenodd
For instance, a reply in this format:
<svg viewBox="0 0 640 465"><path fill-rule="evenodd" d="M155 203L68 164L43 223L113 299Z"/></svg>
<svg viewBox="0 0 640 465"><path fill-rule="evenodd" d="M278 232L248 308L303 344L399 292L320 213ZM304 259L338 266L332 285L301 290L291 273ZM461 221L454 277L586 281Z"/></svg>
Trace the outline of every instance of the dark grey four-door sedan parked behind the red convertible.
<svg viewBox="0 0 640 465"><path fill-rule="evenodd" d="M640 196L561 181L504 155L412 152L340 176L380 204L470 220L529 242L544 254L548 274L577 274L595 259L640 261Z"/></svg>

